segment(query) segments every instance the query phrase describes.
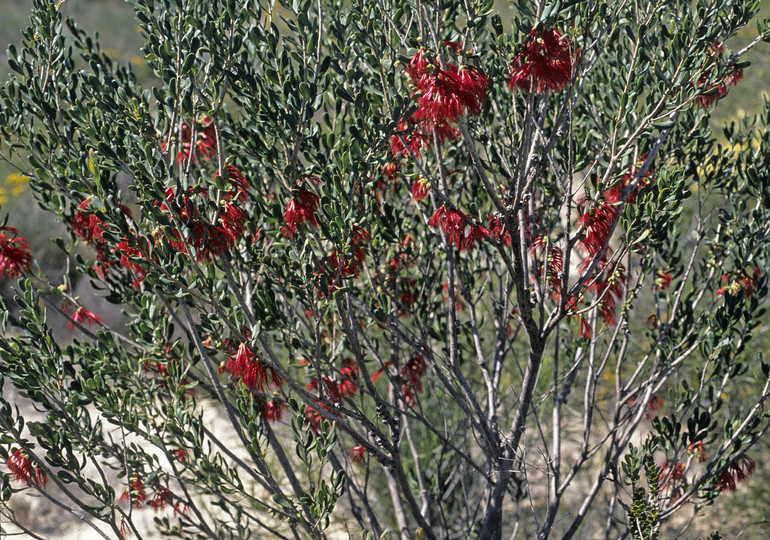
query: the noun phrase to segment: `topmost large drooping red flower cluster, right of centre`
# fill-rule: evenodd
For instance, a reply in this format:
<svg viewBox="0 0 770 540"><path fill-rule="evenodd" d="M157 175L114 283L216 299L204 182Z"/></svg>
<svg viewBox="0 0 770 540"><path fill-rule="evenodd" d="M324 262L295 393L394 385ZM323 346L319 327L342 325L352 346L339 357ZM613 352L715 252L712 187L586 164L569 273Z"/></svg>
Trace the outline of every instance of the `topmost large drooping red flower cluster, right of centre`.
<svg viewBox="0 0 770 540"><path fill-rule="evenodd" d="M569 41L556 30L533 30L524 50L513 59L508 87L542 94L546 89L561 91L572 79Z"/></svg>

